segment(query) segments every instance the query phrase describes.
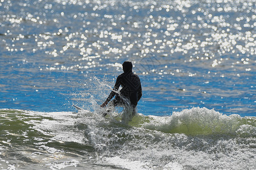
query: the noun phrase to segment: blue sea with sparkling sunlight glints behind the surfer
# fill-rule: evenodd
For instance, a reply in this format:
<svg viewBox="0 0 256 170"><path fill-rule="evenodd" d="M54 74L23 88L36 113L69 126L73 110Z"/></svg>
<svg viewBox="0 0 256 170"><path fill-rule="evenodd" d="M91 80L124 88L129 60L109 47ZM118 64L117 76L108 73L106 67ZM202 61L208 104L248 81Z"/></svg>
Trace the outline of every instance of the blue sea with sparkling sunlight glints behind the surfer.
<svg viewBox="0 0 256 170"><path fill-rule="evenodd" d="M144 114L194 106L255 113L254 1L3 1L0 7L7 108L65 110L61 93L93 76L106 75L112 86L129 59L142 79Z"/></svg>

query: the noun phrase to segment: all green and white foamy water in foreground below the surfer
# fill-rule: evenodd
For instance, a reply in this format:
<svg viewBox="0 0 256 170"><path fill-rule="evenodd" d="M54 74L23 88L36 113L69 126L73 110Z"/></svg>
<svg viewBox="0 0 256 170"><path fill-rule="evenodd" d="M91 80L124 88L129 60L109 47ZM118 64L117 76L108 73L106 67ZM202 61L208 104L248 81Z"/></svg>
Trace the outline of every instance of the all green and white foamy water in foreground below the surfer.
<svg viewBox="0 0 256 170"><path fill-rule="evenodd" d="M3 169L253 169L256 119L207 108L171 116L0 110ZM129 117L129 116L128 116Z"/></svg>

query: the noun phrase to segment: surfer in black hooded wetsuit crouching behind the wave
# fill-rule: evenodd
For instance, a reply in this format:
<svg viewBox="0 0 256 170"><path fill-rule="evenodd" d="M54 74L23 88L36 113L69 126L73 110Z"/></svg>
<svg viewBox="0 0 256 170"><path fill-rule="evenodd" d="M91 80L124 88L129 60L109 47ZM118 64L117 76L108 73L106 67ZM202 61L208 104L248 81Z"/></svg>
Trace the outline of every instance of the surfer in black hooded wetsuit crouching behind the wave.
<svg viewBox="0 0 256 170"><path fill-rule="evenodd" d="M134 74L132 69L133 64L130 61L123 62L124 73L117 77L117 81L115 82L112 92L101 105L102 108L105 108L109 101L115 96L115 99L110 101L109 105L114 107L119 104L125 105L125 99L128 99L134 108L133 115L135 114L135 107L137 106L139 99L142 97L142 88L139 76ZM122 86L122 89L118 94L117 91L120 85ZM106 116L106 114L104 116Z"/></svg>

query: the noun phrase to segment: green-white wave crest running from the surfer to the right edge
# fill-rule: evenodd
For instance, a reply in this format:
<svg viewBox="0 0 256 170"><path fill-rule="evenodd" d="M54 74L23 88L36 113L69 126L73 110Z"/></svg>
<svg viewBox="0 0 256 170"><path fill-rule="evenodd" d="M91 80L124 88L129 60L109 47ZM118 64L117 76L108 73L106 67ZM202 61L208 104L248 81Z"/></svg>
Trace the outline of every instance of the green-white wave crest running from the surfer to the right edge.
<svg viewBox="0 0 256 170"><path fill-rule="evenodd" d="M256 137L256 118L227 116L214 109L192 108L174 112L171 116L144 116L138 114L130 123L164 133L184 133L187 135L230 134Z"/></svg>

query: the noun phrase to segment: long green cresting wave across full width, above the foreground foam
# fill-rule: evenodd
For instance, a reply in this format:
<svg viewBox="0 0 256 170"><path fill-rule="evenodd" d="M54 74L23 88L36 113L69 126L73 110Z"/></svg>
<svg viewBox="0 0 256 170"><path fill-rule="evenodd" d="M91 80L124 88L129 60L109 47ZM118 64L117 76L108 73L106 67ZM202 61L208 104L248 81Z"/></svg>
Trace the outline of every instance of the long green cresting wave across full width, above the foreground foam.
<svg viewBox="0 0 256 170"><path fill-rule="evenodd" d="M145 130L155 130L162 133L185 134L185 135L237 135L238 137L256 137L256 118L241 117L238 114L221 114L214 109L191 108L181 112L174 112L170 116L145 116L137 113L132 119L123 114L109 113L106 118L101 116L101 112L80 111L73 112L33 112L18 109L0 109L1 125L13 126L30 124L38 129L47 125L49 131L57 131L53 125L65 121L66 126L78 128L80 130L94 126L113 126L143 128ZM71 118L72 117L72 118ZM38 120L39 119L39 120ZM62 120L59 122L57 120ZM38 121L36 121L38 120ZM53 124L53 125L52 125ZM44 127L43 129L47 129ZM17 129L18 130L18 129Z"/></svg>

